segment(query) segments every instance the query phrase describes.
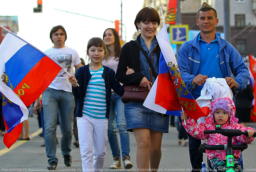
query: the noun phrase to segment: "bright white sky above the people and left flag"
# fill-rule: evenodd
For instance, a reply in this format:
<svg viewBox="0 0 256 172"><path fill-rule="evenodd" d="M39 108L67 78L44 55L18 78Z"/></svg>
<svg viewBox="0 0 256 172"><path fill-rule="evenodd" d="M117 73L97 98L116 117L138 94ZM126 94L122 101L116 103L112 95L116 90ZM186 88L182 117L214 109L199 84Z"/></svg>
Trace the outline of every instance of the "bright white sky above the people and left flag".
<svg viewBox="0 0 256 172"><path fill-rule="evenodd" d="M18 16L17 35L41 51L53 46L50 39L52 27L62 25L67 32L65 46L75 49L79 56L85 59L88 40L92 37L102 39L105 29L115 28L114 23L108 21L58 10L110 21L121 19L121 0L43 0L43 13L33 13L33 7L37 6L36 2L36 0L0 0L0 16ZM122 3L126 42L129 42L136 32L134 20L142 9L143 0L123 0ZM125 39L125 32L123 38Z"/></svg>

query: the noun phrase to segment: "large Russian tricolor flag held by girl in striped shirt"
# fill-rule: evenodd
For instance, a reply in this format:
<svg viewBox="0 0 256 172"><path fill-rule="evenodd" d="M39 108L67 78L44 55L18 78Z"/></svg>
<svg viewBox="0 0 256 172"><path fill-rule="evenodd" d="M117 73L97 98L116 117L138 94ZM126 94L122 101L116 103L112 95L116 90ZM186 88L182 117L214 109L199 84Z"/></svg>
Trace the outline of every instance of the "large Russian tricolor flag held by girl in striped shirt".
<svg viewBox="0 0 256 172"><path fill-rule="evenodd" d="M18 139L28 107L50 85L61 66L12 32L0 45L0 91L6 128L4 144L10 148Z"/></svg>

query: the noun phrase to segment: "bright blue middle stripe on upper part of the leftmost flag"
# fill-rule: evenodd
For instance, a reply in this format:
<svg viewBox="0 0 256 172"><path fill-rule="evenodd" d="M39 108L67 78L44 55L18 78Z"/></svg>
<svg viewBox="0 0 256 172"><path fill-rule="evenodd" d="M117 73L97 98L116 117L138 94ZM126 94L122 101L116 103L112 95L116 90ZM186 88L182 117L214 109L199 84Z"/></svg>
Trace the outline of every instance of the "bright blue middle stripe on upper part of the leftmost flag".
<svg viewBox="0 0 256 172"><path fill-rule="evenodd" d="M10 80L13 90L44 56L44 54L26 44L5 63L5 74L9 78L15 78L13 81Z"/></svg>

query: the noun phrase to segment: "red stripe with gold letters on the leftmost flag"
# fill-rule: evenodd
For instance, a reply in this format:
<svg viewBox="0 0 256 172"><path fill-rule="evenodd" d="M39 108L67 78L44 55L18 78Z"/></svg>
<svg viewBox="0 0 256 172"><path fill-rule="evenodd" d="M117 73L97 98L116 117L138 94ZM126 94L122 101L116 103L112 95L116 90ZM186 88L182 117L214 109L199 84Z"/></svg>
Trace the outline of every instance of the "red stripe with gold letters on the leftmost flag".
<svg viewBox="0 0 256 172"><path fill-rule="evenodd" d="M44 56L13 90L28 107L51 84L61 68ZM42 74L42 75L38 75Z"/></svg>

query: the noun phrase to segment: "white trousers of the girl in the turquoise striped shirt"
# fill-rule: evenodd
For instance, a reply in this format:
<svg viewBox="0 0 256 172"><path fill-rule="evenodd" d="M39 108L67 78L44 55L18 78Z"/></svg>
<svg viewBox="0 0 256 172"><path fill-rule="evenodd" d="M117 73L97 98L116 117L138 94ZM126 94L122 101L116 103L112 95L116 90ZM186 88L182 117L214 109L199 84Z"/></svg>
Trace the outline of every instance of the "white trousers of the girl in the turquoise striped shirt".
<svg viewBox="0 0 256 172"><path fill-rule="evenodd" d="M101 171L106 157L108 119L77 117L83 171Z"/></svg>

